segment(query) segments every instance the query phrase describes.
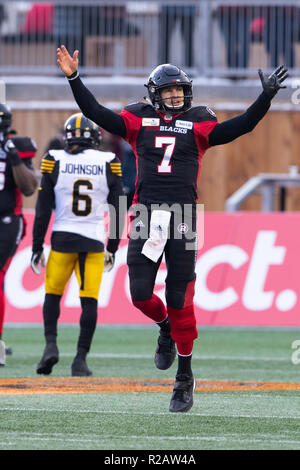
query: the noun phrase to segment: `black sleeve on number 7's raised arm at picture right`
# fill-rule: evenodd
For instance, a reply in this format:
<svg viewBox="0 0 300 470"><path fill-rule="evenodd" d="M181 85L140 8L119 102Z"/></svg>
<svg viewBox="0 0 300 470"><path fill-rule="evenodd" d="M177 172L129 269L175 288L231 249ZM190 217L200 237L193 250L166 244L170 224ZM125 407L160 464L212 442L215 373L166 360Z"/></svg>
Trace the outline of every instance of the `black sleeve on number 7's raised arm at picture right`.
<svg viewBox="0 0 300 470"><path fill-rule="evenodd" d="M261 93L245 113L217 124L209 134L209 145L227 144L237 137L253 131L255 126L269 110L270 105L270 98L266 93Z"/></svg>

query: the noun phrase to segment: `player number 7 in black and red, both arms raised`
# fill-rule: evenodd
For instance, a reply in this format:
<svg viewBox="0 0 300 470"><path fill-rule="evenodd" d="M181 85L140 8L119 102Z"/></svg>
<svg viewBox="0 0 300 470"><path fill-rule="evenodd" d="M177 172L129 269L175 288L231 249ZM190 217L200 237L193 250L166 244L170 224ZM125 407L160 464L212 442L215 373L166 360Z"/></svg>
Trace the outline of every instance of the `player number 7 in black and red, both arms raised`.
<svg viewBox="0 0 300 470"><path fill-rule="evenodd" d="M160 327L155 352L159 369L172 365L176 345L178 369L169 410L188 411L195 385L191 358L197 338L193 297L201 160L209 147L231 142L254 129L283 88L287 70L278 67L270 76L259 70L263 91L257 100L240 116L218 123L206 106L192 107L192 81L171 64L162 64L150 74L147 101L114 113L99 104L82 83L78 53L70 56L64 46L57 50L58 65L78 106L89 119L129 142L136 155L134 207L140 213L135 211L128 246L131 297L133 304ZM191 208L189 216L180 219L187 205ZM193 249L187 249L188 242ZM167 265L166 307L153 294L163 254Z"/></svg>

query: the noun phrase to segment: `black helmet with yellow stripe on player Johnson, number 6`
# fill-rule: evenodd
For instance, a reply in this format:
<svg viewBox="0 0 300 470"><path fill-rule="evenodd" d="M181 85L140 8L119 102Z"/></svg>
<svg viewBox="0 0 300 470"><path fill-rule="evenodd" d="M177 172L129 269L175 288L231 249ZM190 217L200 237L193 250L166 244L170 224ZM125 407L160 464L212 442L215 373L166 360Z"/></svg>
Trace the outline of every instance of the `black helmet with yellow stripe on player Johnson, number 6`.
<svg viewBox="0 0 300 470"><path fill-rule="evenodd" d="M64 140L68 147L97 148L101 139L99 126L81 113L72 114L64 124Z"/></svg>

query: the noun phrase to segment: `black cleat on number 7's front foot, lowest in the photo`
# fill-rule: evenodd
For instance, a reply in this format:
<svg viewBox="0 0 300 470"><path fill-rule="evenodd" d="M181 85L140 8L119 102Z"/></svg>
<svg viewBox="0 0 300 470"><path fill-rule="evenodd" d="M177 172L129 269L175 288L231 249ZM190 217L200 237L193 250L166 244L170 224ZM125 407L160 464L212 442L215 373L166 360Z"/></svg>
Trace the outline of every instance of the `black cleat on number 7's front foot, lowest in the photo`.
<svg viewBox="0 0 300 470"><path fill-rule="evenodd" d="M196 382L193 376L186 374L177 375L169 411L173 413L189 411L193 406L195 385Z"/></svg>

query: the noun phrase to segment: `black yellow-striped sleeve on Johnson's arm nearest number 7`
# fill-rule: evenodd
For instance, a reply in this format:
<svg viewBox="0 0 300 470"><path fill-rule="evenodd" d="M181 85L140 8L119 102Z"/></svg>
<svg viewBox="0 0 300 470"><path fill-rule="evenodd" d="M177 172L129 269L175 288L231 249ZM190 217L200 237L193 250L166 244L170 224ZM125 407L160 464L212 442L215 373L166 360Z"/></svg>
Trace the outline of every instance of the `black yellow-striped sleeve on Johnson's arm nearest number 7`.
<svg viewBox="0 0 300 470"><path fill-rule="evenodd" d="M109 204L109 236L107 251L115 253L118 249L124 230L125 215L127 211L126 198L122 184L121 162L115 157L106 164L106 175L109 186L107 202Z"/></svg>

